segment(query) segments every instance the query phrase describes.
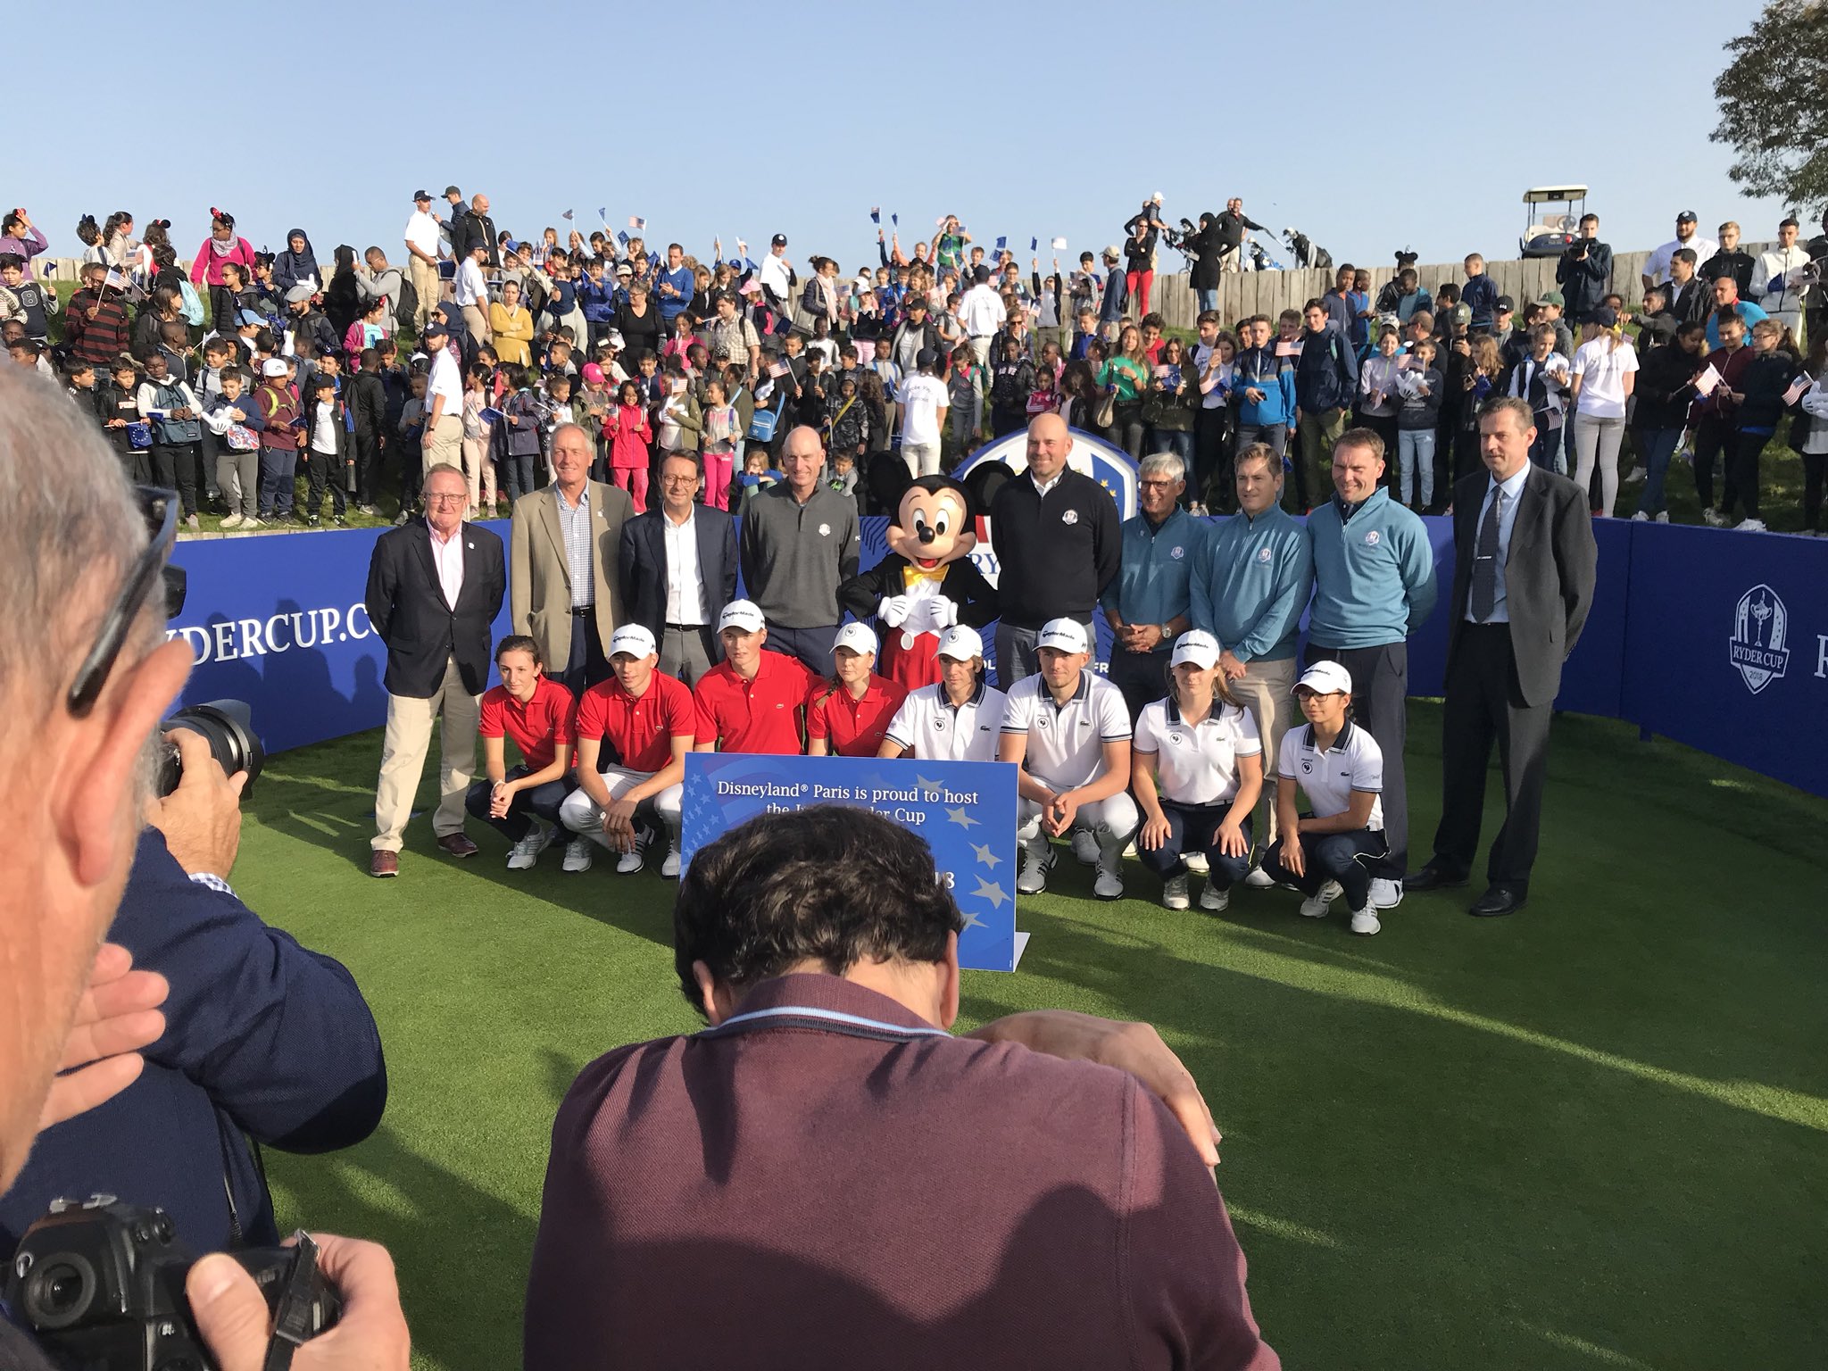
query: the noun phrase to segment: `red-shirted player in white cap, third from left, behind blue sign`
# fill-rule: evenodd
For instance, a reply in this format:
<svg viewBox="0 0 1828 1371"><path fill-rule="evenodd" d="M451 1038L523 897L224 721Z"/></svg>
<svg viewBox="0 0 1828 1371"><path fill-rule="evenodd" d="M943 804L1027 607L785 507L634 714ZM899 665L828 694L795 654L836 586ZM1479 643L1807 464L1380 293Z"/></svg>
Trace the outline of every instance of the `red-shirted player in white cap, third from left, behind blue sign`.
<svg viewBox="0 0 1828 1371"><path fill-rule="evenodd" d="M768 622L749 600L731 600L717 618L724 660L698 676L698 751L802 751L801 713L817 684L797 656L764 653Z"/></svg>

